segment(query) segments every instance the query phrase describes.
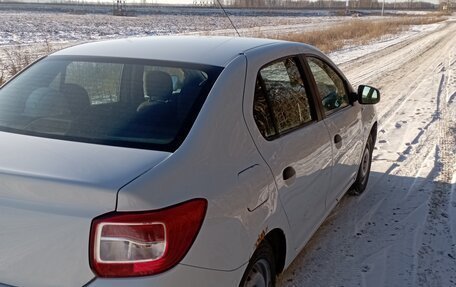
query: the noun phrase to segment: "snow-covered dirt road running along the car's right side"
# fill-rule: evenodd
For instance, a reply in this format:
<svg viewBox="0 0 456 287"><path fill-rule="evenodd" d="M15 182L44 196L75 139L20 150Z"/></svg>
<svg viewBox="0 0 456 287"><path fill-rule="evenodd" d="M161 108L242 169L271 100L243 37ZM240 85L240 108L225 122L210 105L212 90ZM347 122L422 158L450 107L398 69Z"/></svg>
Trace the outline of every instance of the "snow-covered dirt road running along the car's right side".
<svg viewBox="0 0 456 287"><path fill-rule="evenodd" d="M342 65L381 89L369 186L278 286L456 286L456 20Z"/></svg>

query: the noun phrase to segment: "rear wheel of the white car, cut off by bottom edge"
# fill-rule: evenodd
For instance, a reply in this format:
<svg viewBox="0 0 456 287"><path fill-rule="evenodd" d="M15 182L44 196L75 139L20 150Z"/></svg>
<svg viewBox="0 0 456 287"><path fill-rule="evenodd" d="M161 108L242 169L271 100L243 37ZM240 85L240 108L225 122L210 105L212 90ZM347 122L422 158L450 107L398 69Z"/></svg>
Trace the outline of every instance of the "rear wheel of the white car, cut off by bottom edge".
<svg viewBox="0 0 456 287"><path fill-rule="evenodd" d="M253 253L239 287L275 287L275 268L274 252L264 240Z"/></svg>

